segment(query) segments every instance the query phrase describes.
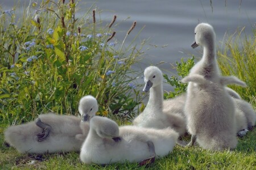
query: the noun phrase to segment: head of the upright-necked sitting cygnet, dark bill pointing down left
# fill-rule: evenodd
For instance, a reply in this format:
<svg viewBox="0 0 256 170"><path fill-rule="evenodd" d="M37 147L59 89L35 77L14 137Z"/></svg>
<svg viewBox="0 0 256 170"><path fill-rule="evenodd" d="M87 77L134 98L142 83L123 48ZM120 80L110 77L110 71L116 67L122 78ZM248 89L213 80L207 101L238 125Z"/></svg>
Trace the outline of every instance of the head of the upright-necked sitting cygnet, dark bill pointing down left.
<svg viewBox="0 0 256 170"><path fill-rule="evenodd" d="M156 87L163 82L163 73L156 66L149 66L144 70L145 86L144 92L148 92L151 87Z"/></svg>

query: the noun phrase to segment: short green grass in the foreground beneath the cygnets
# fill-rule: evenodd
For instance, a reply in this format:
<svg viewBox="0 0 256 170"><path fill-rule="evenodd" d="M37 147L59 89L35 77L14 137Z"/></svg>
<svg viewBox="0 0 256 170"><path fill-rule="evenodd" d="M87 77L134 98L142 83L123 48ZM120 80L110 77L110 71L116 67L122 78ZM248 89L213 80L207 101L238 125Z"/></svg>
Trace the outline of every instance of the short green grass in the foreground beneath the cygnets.
<svg viewBox="0 0 256 170"><path fill-rule="evenodd" d="M202 148L175 146L174 151L164 158L156 159L147 167L137 163L86 165L79 160L78 152L63 154L19 154L14 148L3 145L1 125L0 169L256 169L256 129L238 139L233 151L207 151ZM185 138L188 141L189 137ZM35 160L39 156L42 161ZM34 164L31 164L34 162Z"/></svg>

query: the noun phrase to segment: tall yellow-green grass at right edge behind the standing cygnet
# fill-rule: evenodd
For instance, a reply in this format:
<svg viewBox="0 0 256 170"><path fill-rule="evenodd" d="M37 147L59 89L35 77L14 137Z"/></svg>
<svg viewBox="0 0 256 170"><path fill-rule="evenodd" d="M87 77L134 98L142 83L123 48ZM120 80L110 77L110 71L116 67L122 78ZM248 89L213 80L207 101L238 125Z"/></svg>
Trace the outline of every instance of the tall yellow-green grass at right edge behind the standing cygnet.
<svg viewBox="0 0 256 170"><path fill-rule="evenodd" d="M256 29L254 36L241 36L243 29L230 36L225 42L224 49L219 49L218 65L223 75L235 75L247 84L247 88L230 86L243 99L256 104Z"/></svg>

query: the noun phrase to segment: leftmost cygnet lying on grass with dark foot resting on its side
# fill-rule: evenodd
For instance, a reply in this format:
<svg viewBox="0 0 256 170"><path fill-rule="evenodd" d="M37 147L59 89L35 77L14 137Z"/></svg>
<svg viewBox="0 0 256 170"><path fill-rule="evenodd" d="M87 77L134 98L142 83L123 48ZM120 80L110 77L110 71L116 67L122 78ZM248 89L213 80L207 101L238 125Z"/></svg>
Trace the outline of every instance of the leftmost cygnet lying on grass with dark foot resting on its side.
<svg viewBox="0 0 256 170"><path fill-rule="evenodd" d="M84 96L79 104L82 118L40 114L35 122L9 127L5 131L5 140L22 153L79 151L89 132L89 119L97 111L97 100L93 96Z"/></svg>

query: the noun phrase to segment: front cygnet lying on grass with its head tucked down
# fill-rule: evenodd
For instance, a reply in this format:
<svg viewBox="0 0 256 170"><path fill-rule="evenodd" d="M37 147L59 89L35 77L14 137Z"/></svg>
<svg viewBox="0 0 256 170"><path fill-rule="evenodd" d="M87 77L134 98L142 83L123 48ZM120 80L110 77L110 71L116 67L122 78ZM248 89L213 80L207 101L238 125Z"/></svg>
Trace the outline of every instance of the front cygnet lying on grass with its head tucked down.
<svg viewBox="0 0 256 170"><path fill-rule="evenodd" d="M170 129L150 129L118 125L106 117L90 120L88 137L82 144L80 159L86 164L153 162L155 156L171 152L178 134Z"/></svg>

